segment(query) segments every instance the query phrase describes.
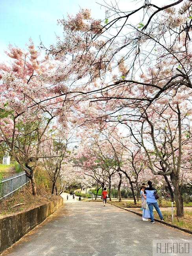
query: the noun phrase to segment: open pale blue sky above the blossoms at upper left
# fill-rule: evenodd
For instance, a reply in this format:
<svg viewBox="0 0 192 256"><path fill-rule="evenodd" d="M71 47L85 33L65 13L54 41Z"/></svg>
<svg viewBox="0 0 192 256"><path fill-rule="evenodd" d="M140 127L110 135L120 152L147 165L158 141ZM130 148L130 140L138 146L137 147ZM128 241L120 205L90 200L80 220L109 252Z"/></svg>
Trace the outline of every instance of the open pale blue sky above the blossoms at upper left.
<svg viewBox="0 0 192 256"><path fill-rule="evenodd" d="M8 60L4 51L9 43L22 49L30 37L36 46L40 37L45 46L55 43L55 33L62 35L57 19L75 15L80 8L91 9L95 19L105 18L105 8L94 0L0 0L0 62Z"/></svg>

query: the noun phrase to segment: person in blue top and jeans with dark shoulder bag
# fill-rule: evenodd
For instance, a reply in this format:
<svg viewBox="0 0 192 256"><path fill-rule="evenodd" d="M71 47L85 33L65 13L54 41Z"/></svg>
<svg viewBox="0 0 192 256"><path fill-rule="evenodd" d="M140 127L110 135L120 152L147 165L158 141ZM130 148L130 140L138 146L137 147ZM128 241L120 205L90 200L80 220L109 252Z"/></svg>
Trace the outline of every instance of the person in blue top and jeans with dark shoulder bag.
<svg viewBox="0 0 192 256"><path fill-rule="evenodd" d="M144 195L146 196L146 200L147 200L147 204L150 210L150 218L151 221L150 223L154 224L154 217L153 217L153 206L155 208L155 210L157 211L157 213L159 214L159 218L161 219L161 221L164 221L163 217L162 217L162 213L159 209L159 205L157 202L157 199L155 199L155 195L154 192L156 191L155 187L152 187L152 182L149 180L148 183L149 187L146 187L144 189Z"/></svg>

